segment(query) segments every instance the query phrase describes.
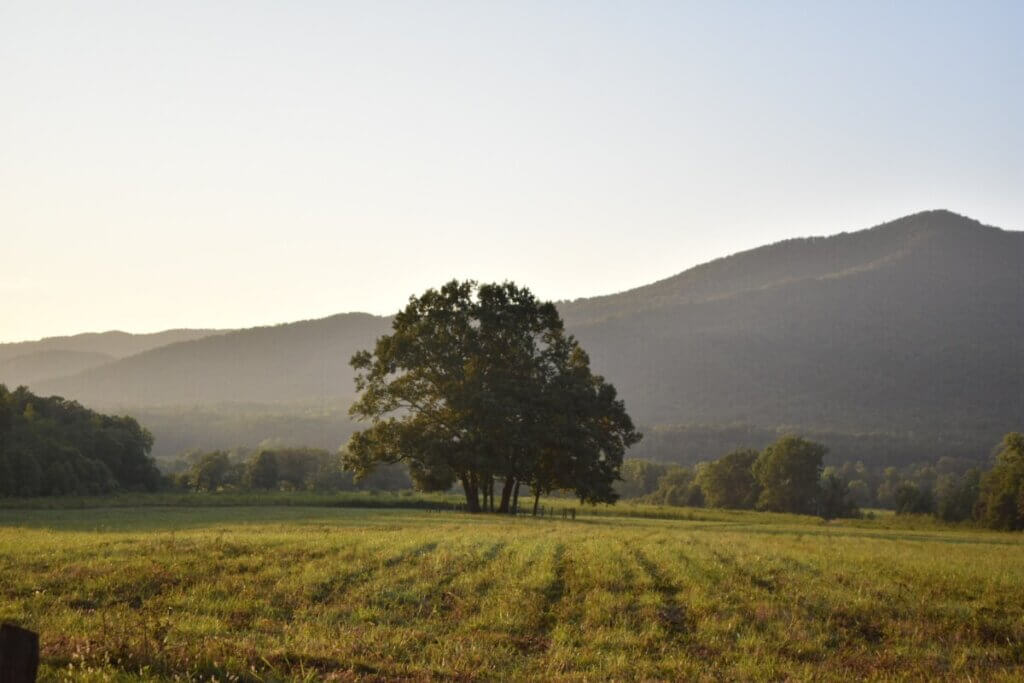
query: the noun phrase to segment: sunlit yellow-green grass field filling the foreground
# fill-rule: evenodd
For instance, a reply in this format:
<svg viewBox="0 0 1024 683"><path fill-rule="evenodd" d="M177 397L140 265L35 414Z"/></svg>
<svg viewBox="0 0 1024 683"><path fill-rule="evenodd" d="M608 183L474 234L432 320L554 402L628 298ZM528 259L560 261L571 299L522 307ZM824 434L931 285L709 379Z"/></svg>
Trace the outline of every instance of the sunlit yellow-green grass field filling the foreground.
<svg viewBox="0 0 1024 683"><path fill-rule="evenodd" d="M1024 678L1020 535L678 516L6 509L0 620L44 679Z"/></svg>

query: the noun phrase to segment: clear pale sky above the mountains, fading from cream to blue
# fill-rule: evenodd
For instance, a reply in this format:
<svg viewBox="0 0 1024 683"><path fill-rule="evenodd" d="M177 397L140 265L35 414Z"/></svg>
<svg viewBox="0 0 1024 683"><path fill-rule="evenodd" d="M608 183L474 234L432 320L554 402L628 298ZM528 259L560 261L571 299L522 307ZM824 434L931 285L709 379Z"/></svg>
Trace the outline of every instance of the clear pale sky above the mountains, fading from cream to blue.
<svg viewBox="0 0 1024 683"><path fill-rule="evenodd" d="M0 0L0 342L1024 229L1024 3Z"/></svg>

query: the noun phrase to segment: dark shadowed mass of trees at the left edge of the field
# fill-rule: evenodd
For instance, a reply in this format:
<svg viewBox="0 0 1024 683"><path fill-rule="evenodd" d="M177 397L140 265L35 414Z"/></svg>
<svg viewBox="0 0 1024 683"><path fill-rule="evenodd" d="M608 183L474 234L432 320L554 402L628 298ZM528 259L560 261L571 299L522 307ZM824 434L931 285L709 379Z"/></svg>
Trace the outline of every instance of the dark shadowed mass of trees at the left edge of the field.
<svg viewBox="0 0 1024 683"><path fill-rule="evenodd" d="M152 447L132 418L0 384L0 496L155 490Z"/></svg>

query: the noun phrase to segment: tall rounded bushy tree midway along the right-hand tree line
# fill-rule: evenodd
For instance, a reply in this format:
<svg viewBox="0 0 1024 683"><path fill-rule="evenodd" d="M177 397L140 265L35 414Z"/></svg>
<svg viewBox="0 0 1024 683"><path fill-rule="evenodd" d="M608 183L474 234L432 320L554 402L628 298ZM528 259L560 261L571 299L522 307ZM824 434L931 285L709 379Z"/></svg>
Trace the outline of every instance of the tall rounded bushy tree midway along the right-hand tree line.
<svg viewBox="0 0 1024 683"><path fill-rule="evenodd" d="M798 436L783 436L754 463L761 484L758 509L771 512L817 512L821 463L826 449Z"/></svg>

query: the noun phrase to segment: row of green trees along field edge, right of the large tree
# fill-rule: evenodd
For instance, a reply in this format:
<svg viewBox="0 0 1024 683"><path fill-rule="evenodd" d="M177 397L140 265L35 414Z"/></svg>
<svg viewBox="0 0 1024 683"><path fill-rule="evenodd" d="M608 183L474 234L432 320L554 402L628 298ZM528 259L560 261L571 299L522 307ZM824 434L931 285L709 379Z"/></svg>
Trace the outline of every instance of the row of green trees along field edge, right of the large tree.
<svg viewBox="0 0 1024 683"><path fill-rule="evenodd" d="M787 436L762 452L738 449L692 468L629 460L617 490L624 498L658 505L826 518L855 516L864 502L873 501L899 514L929 514L996 529L1024 528L1024 435L1020 433L1004 437L988 470L963 469L962 462L944 458L935 465L889 467L873 477L862 463L822 467L825 453L819 443ZM873 496L865 479L878 479Z"/></svg>

